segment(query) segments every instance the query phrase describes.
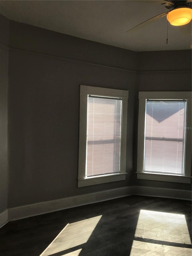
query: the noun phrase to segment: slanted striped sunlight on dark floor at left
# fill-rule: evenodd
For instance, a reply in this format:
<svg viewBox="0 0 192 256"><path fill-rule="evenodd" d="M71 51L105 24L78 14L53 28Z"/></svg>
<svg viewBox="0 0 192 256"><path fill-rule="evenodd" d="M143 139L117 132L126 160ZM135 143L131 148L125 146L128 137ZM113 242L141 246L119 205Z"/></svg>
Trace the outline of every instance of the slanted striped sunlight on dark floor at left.
<svg viewBox="0 0 192 256"><path fill-rule="evenodd" d="M67 224L40 256L49 256L86 243L101 217L102 215L99 215L93 218ZM73 251L62 254L62 256L78 256L79 253L80 251L77 250L76 254L75 251Z"/></svg>

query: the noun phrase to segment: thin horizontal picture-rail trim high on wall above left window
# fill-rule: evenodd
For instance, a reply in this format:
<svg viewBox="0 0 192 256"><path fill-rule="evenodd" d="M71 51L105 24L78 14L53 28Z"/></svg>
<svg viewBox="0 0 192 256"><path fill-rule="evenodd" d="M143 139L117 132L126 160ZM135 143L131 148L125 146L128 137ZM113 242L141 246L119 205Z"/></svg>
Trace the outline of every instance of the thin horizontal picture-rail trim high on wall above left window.
<svg viewBox="0 0 192 256"><path fill-rule="evenodd" d="M39 55L39 56L44 56L46 58L60 59L60 60L65 61L65 62L71 62L71 63L75 63L75 64L79 64L79 65L91 66L91 67L94 67L94 68L104 68L104 69L109 69L109 70L119 71L119 72L125 72L125 73L131 73L131 74L137 73L137 71L134 71L134 70L104 66L104 65L100 65L100 64L89 63L89 62L79 61L79 60L75 60L75 59L67 59L65 57L54 56L54 55L50 55L50 54L36 53L36 52L21 50L21 49L16 49L16 48L9 48L9 50L10 51L28 53L28 54L34 54L34 55Z"/></svg>

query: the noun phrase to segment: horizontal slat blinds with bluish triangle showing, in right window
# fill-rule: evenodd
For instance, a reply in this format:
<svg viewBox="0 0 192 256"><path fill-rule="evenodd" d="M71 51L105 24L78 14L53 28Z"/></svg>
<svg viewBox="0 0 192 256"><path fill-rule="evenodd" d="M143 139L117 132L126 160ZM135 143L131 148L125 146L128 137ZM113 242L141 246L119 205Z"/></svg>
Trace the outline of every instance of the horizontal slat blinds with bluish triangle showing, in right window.
<svg viewBox="0 0 192 256"><path fill-rule="evenodd" d="M186 100L146 100L144 172L183 175Z"/></svg>

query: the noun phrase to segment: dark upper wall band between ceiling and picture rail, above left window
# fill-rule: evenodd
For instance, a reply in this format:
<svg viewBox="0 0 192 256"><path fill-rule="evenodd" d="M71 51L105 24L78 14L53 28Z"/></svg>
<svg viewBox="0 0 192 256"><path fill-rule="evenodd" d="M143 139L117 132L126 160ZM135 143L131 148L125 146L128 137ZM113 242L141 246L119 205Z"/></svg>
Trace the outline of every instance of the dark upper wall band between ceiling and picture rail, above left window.
<svg viewBox="0 0 192 256"><path fill-rule="evenodd" d="M10 47L104 66L136 70L139 53L10 21Z"/></svg>

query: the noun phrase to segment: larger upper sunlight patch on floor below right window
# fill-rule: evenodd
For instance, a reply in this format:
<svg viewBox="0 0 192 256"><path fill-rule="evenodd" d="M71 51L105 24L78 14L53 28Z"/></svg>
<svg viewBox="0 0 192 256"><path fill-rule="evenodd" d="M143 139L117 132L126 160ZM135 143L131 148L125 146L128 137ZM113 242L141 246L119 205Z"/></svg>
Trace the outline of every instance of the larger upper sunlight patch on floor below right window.
<svg viewBox="0 0 192 256"><path fill-rule="evenodd" d="M135 237L191 245L187 222L182 214L141 210Z"/></svg>

